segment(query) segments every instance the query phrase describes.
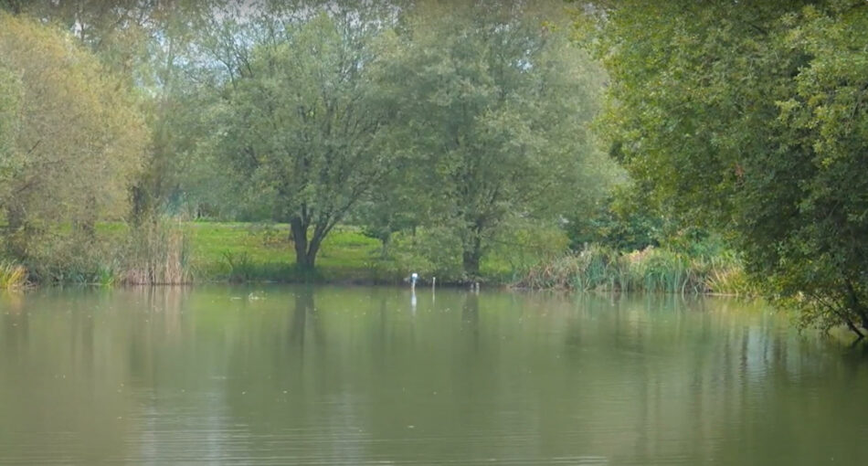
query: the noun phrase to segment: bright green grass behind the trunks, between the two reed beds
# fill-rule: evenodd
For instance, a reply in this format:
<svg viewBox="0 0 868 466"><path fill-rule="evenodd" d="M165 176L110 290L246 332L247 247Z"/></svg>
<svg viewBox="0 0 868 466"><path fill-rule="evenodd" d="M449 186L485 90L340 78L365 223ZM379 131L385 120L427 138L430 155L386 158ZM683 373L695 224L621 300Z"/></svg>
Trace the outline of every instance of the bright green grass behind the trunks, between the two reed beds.
<svg viewBox="0 0 868 466"><path fill-rule="evenodd" d="M366 237L360 228L340 226L323 241L316 272L307 276L295 265L287 225L191 222L182 228L190 245L196 281L399 283L412 271L424 281L431 277L442 284L465 280L458 244L436 230L396 234L384 255L377 239ZM530 237L518 229L508 233L508 238L499 238L482 259L483 281L509 283L545 254L554 255L551 250L542 251L537 240L552 249L566 246L566 238L552 239L551 232L542 232L541 239Z"/></svg>

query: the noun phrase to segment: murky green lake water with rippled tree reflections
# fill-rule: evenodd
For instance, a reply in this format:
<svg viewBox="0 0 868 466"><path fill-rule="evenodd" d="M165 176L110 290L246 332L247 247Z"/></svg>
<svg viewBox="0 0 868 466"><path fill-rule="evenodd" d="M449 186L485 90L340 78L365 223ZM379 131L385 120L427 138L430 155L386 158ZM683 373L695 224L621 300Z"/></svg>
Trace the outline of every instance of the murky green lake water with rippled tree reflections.
<svg viewBox="0 0 868 466"><path fill-rule="evenodd" d="M0 464L864 464L868 357L758 304L0 294Z"/></svg>

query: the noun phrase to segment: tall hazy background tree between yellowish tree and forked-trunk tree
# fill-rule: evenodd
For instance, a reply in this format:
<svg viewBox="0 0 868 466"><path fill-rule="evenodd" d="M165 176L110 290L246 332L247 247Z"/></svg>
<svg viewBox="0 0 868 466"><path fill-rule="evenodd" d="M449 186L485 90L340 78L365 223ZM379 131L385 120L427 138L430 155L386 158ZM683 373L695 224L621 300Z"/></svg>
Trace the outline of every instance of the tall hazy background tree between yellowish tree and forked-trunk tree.
<svg viewBox="0 0 868 466"><path fill-rule="evenodd" d="M206 24L220 2L173 0L154 4L143 24L147 32L135 75L147 99L152 139L142 175L132 186L133 224L176 213L196 190L196 151L209 128L203 108L215 101L214 73L198 50Z"/></svg>

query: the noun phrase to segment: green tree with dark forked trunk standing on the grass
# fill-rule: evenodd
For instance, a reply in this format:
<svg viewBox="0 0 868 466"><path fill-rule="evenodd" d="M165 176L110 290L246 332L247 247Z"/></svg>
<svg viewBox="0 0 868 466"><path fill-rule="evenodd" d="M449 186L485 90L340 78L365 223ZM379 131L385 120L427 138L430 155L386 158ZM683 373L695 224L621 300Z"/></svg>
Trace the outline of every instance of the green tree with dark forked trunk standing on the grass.
<svg viewBox="0 0 868 466"><path fill-rule="evenodd" d="M290 224L302 270L390 163L371 79L377 34L351 9L301 16L260 36L227 83L220 153L246 201Z"/></svg>

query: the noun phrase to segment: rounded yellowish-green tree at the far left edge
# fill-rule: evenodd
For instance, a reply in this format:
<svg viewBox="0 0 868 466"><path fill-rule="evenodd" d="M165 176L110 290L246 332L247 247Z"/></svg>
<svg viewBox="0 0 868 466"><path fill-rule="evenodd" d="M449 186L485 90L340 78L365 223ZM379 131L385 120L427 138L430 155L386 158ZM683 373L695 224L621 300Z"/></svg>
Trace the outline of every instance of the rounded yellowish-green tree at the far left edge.
<svg viewBox="0 0 868 466"><path fill-rule="evenodd" d="M0 57L0 210L7 248L26 259L64 223L90 235L98 217L123 215L147 132L125 88L65 34L0 13Z"/></svg>

